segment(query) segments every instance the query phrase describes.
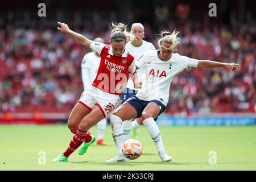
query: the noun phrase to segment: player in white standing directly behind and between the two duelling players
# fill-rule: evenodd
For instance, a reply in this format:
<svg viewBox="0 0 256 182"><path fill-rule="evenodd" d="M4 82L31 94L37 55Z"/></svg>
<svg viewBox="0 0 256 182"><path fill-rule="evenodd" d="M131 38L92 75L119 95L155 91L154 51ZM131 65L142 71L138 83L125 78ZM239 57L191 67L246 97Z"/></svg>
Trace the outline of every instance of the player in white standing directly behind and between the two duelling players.
<svg viewBox="0 0 256 182"><path fill-rule="evenodd" d="M144 27L141 23L133 23L131 25L131 34L135 36L135 39L133 41L130 41L126 44L126 49L128 52L131 53L131 55L134 56L134 60L138 60L139 57L142 56L142 54L146 51L155 50L155 47L152 43L149 43L144 38ZM142 81L142 76L144 74L141 73L140 70L137 72L139 81ZM135 96L135 94L138 92L137 88L134 88L134 82L129 78L126 88L123 91L121 95L121 103L125 102L128 98ZM125 134L125 140L130 138L130 131L131 127L133 126L133 138L138 138L138 130L137 127L140 125L138 124L137 120L141 120L141 118L137 118L132 122L131 125L131 119L127 121L123 121L123 133Z"/></svg>

